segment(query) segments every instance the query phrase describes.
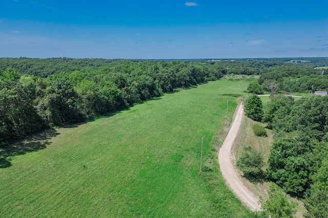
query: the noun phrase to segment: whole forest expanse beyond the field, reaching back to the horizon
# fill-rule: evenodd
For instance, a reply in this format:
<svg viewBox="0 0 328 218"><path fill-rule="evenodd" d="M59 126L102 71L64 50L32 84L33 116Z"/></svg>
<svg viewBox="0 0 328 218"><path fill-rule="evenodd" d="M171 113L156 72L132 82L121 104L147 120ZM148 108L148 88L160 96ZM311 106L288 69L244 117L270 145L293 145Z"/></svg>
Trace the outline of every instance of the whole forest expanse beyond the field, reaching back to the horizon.
<svg viewBox="0 0 328 218"><path fill-rule="evenodd" d="M260 75L259 84L271 92L326 90L328 77L312 66L324 61L0 58L0 144L224 75Z"/></svg>

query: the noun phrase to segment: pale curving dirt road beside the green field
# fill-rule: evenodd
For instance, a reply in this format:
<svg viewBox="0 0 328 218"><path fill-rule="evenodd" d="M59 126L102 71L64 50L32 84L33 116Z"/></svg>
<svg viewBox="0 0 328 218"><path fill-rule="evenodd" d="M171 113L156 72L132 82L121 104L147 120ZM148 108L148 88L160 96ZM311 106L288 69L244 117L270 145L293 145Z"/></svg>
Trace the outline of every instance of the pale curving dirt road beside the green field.
<svg viewBox="0 0 328 218"><path fill-rule="evenodd" d="M237 198L239 198L240 201L247 205L252 211L256 211L261 209L261 206L258 203L259 199L242 184L237 176L232 161L232 146L239 132L242 117L243 105L240 104L229 133L219 150L219 165L226 184L236 194Z"/></svg>

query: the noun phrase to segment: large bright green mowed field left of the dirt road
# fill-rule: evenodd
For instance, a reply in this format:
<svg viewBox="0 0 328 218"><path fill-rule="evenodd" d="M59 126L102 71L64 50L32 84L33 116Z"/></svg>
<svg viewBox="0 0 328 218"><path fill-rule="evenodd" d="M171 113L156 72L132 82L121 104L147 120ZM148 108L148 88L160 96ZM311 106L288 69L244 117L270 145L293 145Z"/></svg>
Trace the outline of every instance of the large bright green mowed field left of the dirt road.
<svg viewBox="0 0 328 218"><path fill-rule="evenodd" d="M248 83L209 82L58 129L45 149L0 169L0 217L248 217L213 146L237 105L222 94L240 84L244 95Z"/></svg>

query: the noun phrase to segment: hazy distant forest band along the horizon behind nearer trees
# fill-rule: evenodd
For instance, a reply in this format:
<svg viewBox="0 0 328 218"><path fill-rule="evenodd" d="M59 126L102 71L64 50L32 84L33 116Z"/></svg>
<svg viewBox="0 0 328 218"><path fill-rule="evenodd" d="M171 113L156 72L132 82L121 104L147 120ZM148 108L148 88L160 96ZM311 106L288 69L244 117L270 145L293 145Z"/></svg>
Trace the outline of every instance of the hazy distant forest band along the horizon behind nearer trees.
<svg viewBox="0 0 328 218"><path fill-rule="evenodd" d="M304 59L304 58L303 58ZM305 58L306 59L306 58ZM171 60L172 61L172 60ZM151 62L171 62L168 60L154 60ZM282 74L300 74L310 75L317 72L313 69L313 64L318 61L326 62L327 58L312 58L310 62L302 62L309 66L300 66L300 64L285 62L284 58L269 59L224 59L224 60L183 60L180 62L192 62L194 65L215 67L222 74L244 74L244 75L261 75L264 73L278 72ZM100 68L114 67L128 62L143 62L141 60L127 59L101 59L101 58L0 58L0 71L12 68L21 74L28 74L40 77L48 77L62 72L72 73L80 71L83 73L95 72ZM311 63L311 64L310 64ZM317 66L318 64L316 64Z"/></svg>

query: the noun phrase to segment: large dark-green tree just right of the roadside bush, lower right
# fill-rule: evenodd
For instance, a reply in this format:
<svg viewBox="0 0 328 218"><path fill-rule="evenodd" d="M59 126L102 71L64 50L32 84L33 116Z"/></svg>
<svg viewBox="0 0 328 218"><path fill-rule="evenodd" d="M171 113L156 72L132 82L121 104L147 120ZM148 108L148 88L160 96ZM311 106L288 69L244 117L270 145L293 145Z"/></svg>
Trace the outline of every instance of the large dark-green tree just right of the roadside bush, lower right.
<svg viewBox="0 0 328 218"><path fill-rule="evenodd" d="M309 152L313 145L299 134L288 134L273 142L268 160L267 175L284 191L301 197L310 187Z"/></svg>

